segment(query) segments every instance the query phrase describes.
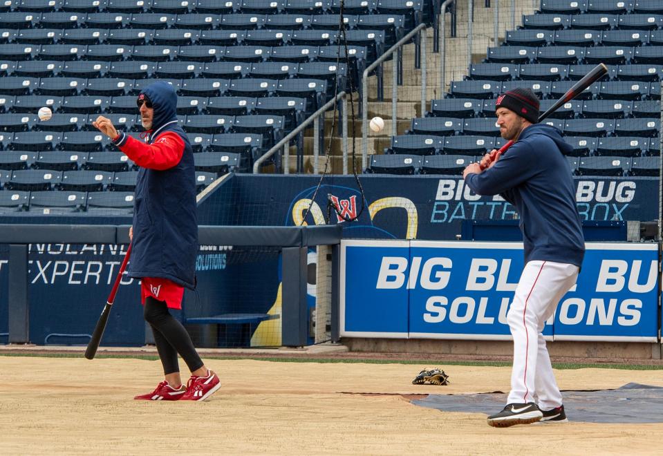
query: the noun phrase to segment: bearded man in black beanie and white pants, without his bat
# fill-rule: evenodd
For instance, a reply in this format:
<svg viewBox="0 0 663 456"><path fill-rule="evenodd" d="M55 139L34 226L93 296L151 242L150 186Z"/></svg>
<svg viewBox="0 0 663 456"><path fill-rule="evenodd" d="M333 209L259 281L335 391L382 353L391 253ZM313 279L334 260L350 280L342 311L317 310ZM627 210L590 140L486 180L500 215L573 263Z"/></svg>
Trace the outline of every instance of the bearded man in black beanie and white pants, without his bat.
<svg viewBox="0 0 663 456"><path fill-rule="evenodd" d="M525 267L507 314L514 339L511 391L507 406L488 424L567 421L541 331L575 284L585 251L564 156L572 147L559 130L538 123L539 99L529 88L500 95L495 108L501 136L514 144L495 160L486 154L483 166L470 164L463 178L475 193L499 194L516 208Z"/></svg>

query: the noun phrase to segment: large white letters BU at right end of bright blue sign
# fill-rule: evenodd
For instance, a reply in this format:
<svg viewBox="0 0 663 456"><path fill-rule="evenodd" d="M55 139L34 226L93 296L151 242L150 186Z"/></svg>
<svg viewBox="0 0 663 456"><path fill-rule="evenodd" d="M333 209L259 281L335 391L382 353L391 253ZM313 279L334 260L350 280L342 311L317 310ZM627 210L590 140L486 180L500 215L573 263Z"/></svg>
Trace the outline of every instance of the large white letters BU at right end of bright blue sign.
<svg viewBox="0 0 663 456"><path fill-rule="evenodd" d="M656 276L658 265L655 260L651 261L647 282L644 285L639 284L640 269L642 260L633 260L631 274L628 276L628 291L633 293L646 293L656 286ZM628 263L624 260L602 260L597 278L596 291L615 293L624 289L626 284L626 272L628 272Z"/></svg>

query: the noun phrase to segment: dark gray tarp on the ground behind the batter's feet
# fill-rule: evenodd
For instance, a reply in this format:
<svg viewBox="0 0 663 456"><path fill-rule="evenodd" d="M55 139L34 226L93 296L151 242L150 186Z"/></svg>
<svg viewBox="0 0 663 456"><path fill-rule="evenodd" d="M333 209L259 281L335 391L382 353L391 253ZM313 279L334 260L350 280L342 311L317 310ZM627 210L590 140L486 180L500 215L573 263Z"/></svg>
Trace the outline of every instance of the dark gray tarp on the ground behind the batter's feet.
<svg viewBox="0 0 663 456"><path fill-rule="evenodd" d="M569 421L663 422L663 388L660 386L628 383L616 390L563 391L562 395ZM507 395L503 392L490 392L475 395L429 395L426 399L418 399L412 403L445 412L479 412L492 415L505 406L506 400Z"/></svg>

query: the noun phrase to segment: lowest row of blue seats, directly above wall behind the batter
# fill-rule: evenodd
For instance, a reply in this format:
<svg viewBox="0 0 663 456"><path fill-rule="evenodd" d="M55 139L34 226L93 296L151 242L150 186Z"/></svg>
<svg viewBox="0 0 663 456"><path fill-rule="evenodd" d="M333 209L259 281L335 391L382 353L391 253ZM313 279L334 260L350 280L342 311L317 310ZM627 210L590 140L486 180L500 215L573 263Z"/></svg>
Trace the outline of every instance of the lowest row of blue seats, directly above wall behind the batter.
<svg viewBox="0 0 663 456"><path fill-rule="evenodd" d="M367 173L463 175L463 169L478 162L471 155L371 155ZM574 175L659 176L660 157L613 158L568 157Z"/></svg>

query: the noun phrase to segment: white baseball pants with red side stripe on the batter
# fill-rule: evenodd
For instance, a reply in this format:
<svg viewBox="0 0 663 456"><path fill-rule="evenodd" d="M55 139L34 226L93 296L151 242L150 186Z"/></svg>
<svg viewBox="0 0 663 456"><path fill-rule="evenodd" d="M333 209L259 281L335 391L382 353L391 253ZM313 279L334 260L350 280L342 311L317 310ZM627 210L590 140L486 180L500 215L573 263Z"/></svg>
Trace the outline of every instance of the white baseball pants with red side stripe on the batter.
<svg viewBox="0 0 663 456"><path fill-rule="evenodd" d="M545 321L575 284L579 267L529 261L516 286L507 323L514 338L514 366L507 403L537 403L541 410L561 406L562 397L543 339Z"/></svg>

